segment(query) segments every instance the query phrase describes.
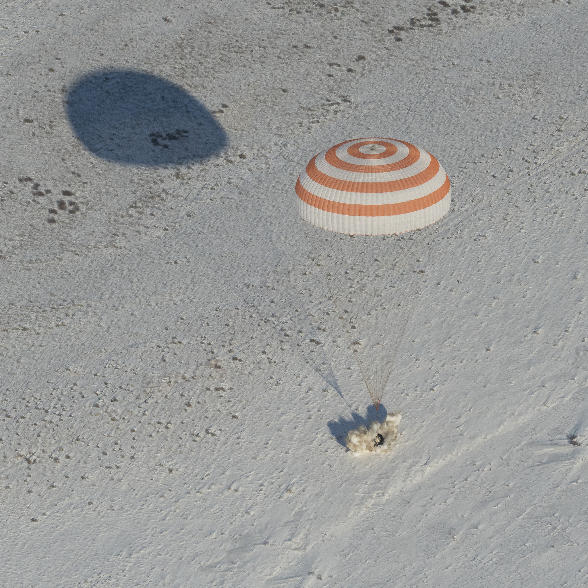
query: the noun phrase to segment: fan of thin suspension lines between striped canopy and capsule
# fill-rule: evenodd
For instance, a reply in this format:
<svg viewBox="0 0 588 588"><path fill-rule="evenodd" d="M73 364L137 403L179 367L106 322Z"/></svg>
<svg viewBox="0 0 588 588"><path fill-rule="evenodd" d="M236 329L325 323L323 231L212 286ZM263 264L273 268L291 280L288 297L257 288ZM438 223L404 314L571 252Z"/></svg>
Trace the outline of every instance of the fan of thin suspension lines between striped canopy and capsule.
<svg viewBox="0 0 588 588"><path fill-rule="evenodd" d="M320 245L313 243L313 261L318 262L330 300L345 322L343 331L376 409L377 444L383 440L379 436L380 403L412 316L420 274L424 273L415 261L422 263L429 252L428 244L422 250L422 243L412 239L398 243L392 252L386 245L366 247L360 239L353 239L353 235L345 241L342 236L325 239L332 243L331 255L321 239ZM377 256L377 265L370 265L371 255Z"/></svg>

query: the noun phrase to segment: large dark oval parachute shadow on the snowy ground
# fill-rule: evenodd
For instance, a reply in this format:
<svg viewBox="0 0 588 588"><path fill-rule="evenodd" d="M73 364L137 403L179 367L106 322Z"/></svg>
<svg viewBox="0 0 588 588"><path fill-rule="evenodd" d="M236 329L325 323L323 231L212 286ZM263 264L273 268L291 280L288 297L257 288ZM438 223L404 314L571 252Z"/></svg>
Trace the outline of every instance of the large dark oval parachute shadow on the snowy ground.
<svg viewBox="0 0 588 588"><path fill-rule="evenodd" d="M181 165L217 155L226 133L198 100L172 82L111 69L79 78L66 112L94 155L131 165Z"/></svg>

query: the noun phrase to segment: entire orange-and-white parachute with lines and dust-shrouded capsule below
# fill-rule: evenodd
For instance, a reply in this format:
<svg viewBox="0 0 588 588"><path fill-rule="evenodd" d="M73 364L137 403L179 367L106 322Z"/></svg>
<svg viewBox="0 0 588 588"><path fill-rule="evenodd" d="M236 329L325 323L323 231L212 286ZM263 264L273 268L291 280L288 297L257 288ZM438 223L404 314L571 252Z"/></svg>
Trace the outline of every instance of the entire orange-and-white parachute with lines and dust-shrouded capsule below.
<svg viewBox="0 0 588 588"><path fill-rule="evenodd" d="M315 259L376 409L375 427L350 432L348 446L353 452L380 450L395 438L400 422L400 413L393 413L382 423L386 433L380 432L378 410L426 279L429 249L419 239L373 235L442 218L451 200L449 178L430 153L410 143L354 139L312 158L296 193L300 216L333 231L326 238L316 235Z"/></svg>

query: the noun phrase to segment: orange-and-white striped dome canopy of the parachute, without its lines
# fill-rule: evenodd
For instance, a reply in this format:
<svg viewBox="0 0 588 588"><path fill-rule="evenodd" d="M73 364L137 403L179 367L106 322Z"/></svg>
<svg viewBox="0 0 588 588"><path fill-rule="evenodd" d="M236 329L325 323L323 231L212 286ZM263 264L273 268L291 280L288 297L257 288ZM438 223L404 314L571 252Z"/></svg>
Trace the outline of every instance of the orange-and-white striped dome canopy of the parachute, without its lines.
<svg viewBox="0 0 588 588"><path fill-rule="evenodd" d="M386 138L353 139L315 155L296 182L298 213L350 235L392 235L449 211L451 187L425 149Z"/></svg>

